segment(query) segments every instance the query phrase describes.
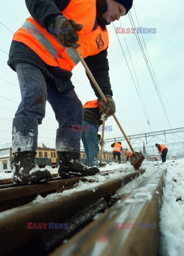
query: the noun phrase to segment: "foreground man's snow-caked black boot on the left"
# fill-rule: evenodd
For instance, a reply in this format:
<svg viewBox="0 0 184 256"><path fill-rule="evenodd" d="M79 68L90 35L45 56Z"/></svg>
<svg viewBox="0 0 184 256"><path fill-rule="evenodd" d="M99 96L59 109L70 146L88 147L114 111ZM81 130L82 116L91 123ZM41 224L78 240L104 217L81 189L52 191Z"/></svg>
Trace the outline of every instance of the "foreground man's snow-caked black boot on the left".
<svg viewBox="0 0 184 256"><path fill-rule="evenodd" d="M35 162L35 152L26 151L14 154L13 178L23 185L47 182L52 179L51 173L39 168Z"/></svg>

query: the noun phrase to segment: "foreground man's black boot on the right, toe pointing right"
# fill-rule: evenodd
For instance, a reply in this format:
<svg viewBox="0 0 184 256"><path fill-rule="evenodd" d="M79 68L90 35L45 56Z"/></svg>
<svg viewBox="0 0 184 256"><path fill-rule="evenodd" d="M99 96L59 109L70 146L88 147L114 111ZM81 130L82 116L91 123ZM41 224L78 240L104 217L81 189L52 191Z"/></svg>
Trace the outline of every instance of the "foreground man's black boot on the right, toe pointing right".
<svg viewBox="0 0 184 256"><path fill-rule="evenodd" d="M60 167L58 174L63 179L79 176L90 176L99 172L95 166L87 167L80 162L80 154L76 152L58 151L58 161Z"/></svg>

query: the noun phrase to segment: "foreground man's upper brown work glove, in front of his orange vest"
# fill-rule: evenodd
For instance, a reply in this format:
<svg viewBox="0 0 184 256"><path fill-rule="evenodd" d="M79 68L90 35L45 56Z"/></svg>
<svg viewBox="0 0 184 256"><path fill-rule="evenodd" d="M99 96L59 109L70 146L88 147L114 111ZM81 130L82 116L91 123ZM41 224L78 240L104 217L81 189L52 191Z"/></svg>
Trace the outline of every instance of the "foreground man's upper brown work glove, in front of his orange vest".
<svg viewBox="0 0 184 256"><path fill-rule="evenodd" d="M73 48L78 48L80 46L80 44L76 42L79 41L77 31L82 29L81 24L58 15L55 19L55 28L58 30L58 33L55 35L63 46Z"/></svg>

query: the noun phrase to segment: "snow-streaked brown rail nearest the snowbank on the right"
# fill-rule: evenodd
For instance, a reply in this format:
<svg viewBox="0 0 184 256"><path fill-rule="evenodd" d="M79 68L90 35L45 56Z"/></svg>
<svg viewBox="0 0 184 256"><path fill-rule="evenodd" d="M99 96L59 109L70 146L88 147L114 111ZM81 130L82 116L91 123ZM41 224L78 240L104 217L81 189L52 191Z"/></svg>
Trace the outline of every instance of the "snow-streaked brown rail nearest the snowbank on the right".
<svg viewBox="0 0 184 256"><path fill-rule="evenodd" d="M50 256L156 256L166 170L141 183Z"/></svg>

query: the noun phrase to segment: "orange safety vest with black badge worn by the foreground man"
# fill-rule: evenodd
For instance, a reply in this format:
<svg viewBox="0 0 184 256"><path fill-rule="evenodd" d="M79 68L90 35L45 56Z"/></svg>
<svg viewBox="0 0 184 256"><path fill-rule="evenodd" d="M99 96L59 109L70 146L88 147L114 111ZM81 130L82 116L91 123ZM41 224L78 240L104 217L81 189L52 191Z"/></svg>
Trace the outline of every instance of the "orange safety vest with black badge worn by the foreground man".
<svg viewBox="0 0 184 256"><path fill-rule="evenodd" d="M82 30L77 32L78 43L81 45L78 50L83 58L107 49L107 31L102 30L99 25L92 31L96 21L96 0L90 0L88 3L86 0L71 0L62 14L83 26ZM32 31L39 34L31 34ZM71 71L79 62L72 47L62 46L54 34L49 34L31 17L15 32L13 40L29 46L49 66Z"/></svg>

